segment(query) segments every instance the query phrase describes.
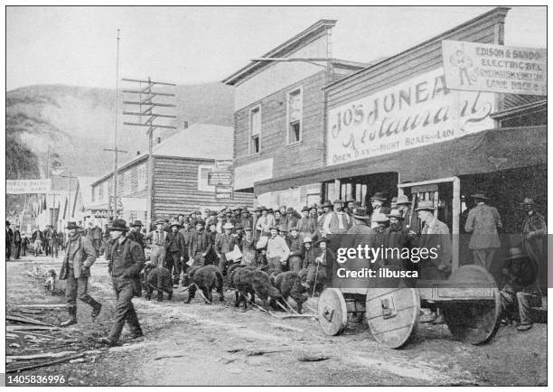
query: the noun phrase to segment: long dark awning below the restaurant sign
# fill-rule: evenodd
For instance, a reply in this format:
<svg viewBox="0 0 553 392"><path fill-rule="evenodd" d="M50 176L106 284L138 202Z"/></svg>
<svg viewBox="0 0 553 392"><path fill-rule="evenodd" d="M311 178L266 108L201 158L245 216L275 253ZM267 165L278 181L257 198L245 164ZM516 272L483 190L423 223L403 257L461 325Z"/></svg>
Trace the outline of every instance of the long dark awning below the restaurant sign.
<svg viewBox="0 0 553 392"><path fill-rule="evenodd" d="M256 195L306 183L374 173L399 173L400 182L491 173L547 163L547 126L490 129L444 143L256 182Z"/></svg>

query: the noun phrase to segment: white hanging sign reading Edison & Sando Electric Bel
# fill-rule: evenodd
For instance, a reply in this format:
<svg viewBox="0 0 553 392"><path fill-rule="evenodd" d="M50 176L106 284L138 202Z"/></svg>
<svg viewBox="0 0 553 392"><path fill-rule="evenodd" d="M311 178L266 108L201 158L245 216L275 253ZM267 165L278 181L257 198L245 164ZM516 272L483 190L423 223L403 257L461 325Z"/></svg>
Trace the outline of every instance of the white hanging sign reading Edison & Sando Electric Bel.
<svg viewBox="0 0 553 392"><path fill-rule="evenodd" d="M545 49L443 41L448 89L547 95Z"/></svg>

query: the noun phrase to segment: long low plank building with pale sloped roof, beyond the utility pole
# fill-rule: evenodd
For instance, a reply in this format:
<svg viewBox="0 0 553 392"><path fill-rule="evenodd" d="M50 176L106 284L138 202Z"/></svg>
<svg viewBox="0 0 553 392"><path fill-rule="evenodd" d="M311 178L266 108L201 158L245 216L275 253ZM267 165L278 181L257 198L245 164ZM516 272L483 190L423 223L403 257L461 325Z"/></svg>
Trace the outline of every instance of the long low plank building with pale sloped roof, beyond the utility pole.
<svg viewBox="0 0 553 392"><path fill-rule="evenodd" d="M252 193L235 191L232 201L217 201L214 187L208 185L215 160L232 159L232 139L230 126L194 124L154 146L153 219L225 205L252 206ZM147 162L148 154L136 154L117 170L117 208L127 221L146 221ZM113 173L106 173L92 182L93 214L108 210L112 179Z"/></svg>

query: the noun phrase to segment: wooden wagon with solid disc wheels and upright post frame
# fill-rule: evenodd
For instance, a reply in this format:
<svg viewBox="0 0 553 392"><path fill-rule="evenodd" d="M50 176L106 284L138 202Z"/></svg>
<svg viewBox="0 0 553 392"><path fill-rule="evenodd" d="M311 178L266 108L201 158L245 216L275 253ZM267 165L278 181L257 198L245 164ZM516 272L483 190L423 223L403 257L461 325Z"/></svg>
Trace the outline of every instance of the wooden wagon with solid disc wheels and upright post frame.
<svg viewBox="0 0 553 392"><path fill-rule="evenodd" d="M438 201L438 189L451 195L453 234L452 274L448 280L399 281L397 287L326 288L317 313L324 333L344 331L348 315L364 315L376 341L392 349L405 346L417 331L420 310L434 303L457 341L483 344L497 331L501 312L500 292L493 276L481 266L459 266L459 214L461 205L457 177L398 185L419 200ZM409 189L406 189L409 188Z"/></svg>

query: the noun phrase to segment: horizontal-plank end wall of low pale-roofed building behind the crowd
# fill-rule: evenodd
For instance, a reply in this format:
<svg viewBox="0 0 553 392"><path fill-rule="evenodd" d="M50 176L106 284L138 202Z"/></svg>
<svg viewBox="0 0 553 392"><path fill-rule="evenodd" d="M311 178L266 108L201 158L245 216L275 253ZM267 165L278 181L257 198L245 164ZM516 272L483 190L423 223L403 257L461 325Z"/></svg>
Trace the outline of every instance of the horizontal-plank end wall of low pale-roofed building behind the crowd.
<svg viewBox="0 0 553 392"><path fill-rule="evenodd" d="M252 207L253 193L234 192L234 200L216 201L215 192L198 190L198 167L214 164L213 160L155 157L152 215L173 217L199 207L213 210L225 205Z"/></svg>

